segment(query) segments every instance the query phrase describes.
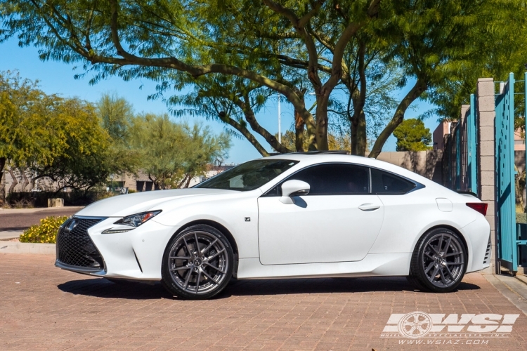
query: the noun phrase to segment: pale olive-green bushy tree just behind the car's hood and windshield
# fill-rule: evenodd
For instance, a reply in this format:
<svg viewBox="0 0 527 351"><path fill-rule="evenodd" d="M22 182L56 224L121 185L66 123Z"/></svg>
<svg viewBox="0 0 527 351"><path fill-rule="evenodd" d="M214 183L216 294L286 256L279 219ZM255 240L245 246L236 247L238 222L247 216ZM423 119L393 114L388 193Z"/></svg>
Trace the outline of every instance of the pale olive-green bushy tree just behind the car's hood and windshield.
<svg viewBox="0 0 527 351"><path fill-rule="evenodd" d="M142 114L133 119L131 145L141 153L140 167L161 189L188 187L209 164L221 162L230 147L226 133L176 124L167 114Z"/></svg>

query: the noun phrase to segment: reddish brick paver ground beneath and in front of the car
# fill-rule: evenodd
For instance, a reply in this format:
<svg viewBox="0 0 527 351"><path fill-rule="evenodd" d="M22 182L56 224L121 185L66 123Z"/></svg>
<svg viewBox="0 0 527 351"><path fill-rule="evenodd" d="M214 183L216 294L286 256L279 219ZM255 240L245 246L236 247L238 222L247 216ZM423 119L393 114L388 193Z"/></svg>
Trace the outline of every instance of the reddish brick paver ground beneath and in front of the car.
<svg viewBox="0 0 527 351"><path fill-rule="evenodd" d="M0 254L0 350L526 350L527 317L481 274L459 291L413 291L404 278L236 282L214 300L160 284L112 284L53 267L53 256ZM380 338L391 313L519 313L486 345ZM484 339L484 338L483 338Z"/></svg>

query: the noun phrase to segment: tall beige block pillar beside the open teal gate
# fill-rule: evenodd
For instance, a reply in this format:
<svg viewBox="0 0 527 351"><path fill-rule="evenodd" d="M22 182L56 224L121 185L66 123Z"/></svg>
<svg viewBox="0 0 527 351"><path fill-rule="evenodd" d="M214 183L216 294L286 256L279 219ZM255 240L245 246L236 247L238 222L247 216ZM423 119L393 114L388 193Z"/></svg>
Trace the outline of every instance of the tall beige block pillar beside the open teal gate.
<svg viewBox="0 0 527 351"><path fill-rule="evenodd" d="M492 242L492 258L489 273L499 273L496 265L497 257L497 222L496 218L496 161L495 161L495 97L494 79L480 78L476 90L477 116L477 159L478 159L478 194L481 201L488 203L487 220L490 224L490 241Z"/></svg>

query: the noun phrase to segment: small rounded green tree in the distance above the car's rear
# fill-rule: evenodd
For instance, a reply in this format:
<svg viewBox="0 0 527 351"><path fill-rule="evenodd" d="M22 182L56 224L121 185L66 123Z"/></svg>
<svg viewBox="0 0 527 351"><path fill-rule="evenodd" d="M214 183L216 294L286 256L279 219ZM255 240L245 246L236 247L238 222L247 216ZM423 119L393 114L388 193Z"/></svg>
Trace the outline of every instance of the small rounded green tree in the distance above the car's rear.
<svg viewBox="0 0 527 351"><path fill-rule="evenodd" d="M420 119L405 119L393 131L397 138L397 151L424 151L430 150L432 135L429 128L424 127Z"/></svg>

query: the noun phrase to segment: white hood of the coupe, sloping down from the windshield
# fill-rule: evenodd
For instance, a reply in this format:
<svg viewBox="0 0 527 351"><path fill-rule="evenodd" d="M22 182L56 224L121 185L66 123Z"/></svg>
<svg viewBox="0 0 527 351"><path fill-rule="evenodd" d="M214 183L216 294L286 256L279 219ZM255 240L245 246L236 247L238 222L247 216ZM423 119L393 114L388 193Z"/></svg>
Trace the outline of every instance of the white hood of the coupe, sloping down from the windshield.
<svg viewBox="0 0 527 351"><path fill-rule="evenodd" d="M211 194L233 194L233 190L220 189L175 189L155 190L152 192L136 192L134 194L117 195L94 202L75 213L75 216L90 217L124 217L134 213L141 213L150 209L155 210L165 201L182 197L195 197Z"/></svg>

